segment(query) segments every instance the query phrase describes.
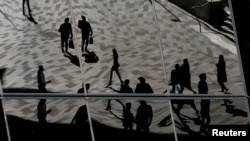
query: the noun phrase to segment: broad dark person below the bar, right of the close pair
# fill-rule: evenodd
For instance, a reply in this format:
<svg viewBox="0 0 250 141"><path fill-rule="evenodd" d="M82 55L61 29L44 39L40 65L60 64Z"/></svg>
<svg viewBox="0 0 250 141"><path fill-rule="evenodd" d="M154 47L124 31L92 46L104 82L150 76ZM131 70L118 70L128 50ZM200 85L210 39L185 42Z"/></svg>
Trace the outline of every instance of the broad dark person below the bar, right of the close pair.
<svg viewBox="0 0 250 141"><path fill-rule="evenodd" d="M137 109L135 116L136 131L138 132L149 132L149 126L153 120L153 110L150 105L147 105L146 101L141 100L140 106Z"/></svg>

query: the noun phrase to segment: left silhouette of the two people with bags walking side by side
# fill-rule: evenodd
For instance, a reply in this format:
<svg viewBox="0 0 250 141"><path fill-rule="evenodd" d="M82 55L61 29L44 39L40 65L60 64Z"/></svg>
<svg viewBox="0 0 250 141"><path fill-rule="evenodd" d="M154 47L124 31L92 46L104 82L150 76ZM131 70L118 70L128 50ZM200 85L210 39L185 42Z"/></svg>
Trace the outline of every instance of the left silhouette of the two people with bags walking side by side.
<svg viewBox="0 0 250 141"><path fill-rule="evenodd" d="M69 38L73 39L72 27L69 23L69 18L64 20L64 23L60 25L58 30L61 33L61 48L62 53L68 53ZM65 48L65 49L64 49Z"/></svg>

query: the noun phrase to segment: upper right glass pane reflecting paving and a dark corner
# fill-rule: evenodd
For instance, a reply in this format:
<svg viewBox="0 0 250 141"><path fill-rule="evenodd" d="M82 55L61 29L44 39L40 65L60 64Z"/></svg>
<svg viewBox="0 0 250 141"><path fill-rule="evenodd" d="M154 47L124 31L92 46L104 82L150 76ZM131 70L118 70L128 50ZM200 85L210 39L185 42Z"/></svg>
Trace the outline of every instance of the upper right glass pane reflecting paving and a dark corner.
<svg viewBox="0 0 250 141"><path fill-rule="evenodd" d="M240 53L227 0L154 0L168 81L183 68L183 93L198 92L207 75L211 94L245 94ZM169 91L170 92L170 91Z"/></svg>

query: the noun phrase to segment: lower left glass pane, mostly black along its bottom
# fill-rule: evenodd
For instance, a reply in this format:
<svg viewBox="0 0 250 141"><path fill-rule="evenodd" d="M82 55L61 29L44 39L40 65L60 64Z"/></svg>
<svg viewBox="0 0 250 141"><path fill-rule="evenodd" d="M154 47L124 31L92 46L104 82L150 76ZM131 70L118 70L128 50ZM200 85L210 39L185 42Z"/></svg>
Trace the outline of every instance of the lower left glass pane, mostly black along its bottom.
<svg viewBox="0 0 250 141"><path fill-rule="evenodd" d="M12 141L91 141L86 102L66 99L4 101Z"/></svg>

